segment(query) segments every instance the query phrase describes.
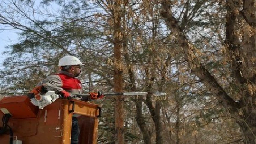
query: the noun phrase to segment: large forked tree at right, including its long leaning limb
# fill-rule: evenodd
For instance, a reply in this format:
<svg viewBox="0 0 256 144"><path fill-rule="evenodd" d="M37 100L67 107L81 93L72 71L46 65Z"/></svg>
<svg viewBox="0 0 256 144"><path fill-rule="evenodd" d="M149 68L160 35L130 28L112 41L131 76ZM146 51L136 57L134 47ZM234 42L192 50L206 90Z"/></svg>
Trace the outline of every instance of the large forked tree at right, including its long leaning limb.
<svg viewBox="0 0 256 144"><path fill-rule="evenodd" d="M222 106L236 118L239 124L244 143L255 143L255 17L253 16L255 1L216 1L221 6L226 5L225 40L222 41L223 57L229 58L224 61L222 67L230 69L231 82L229 87L236 92L228 92L223 87L223 82L216 78L212 69L198 58L197 47L189 42L184 29L174 17L171 11L171 3L168 0L162 1L162 16L172 35L176 36L176 42L183 49L184 58L191 71L200 79L209 90L214 93ZM223 8L223 7L222 7ZM241 27L241 25L243 27ZM219 48L221 49L221 48ZM249 52L250 51L250 52ZM225 80L228 80L226 78ZM235 96L239 95L239 101L235 102Z"/></svg>

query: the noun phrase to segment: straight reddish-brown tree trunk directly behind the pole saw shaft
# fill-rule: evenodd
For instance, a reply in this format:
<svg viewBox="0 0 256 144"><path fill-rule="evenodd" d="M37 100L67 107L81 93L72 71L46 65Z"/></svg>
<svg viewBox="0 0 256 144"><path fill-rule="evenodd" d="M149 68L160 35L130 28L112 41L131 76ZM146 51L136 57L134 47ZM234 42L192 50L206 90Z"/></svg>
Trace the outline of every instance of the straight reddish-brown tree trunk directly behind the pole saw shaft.
<svg viewBox="0 0 256 144"><path fill-rule="evenodd" d="M123 91L121 1L114 1L114 90ZM123 96L115 97L115 143L124 144L124 108Z"/></svg>

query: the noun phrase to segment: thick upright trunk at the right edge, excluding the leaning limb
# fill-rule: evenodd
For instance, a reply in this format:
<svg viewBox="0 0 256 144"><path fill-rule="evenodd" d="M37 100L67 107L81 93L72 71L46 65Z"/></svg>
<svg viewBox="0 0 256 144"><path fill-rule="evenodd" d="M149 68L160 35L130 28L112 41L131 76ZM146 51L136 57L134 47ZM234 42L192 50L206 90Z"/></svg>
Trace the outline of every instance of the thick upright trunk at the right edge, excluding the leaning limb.
<svg viewBox="0 0 256 144"><path fill-rule="evenodd" d="M256 144L256 30L255 30L255 0L244 0L235 3L226 0L226 39L224 44L229 52L228 57L232 62L232 74L236 79L239 94L242 98L237 102L239 113L232 113L240 126L244 143ZM243 5L242 5L243 4ZM243 9L239 12L239 9ZM244 20L243 29L239 21ZM237 31L242 31L242 36ZM241 42L242 40L242 42Z"/></svg>

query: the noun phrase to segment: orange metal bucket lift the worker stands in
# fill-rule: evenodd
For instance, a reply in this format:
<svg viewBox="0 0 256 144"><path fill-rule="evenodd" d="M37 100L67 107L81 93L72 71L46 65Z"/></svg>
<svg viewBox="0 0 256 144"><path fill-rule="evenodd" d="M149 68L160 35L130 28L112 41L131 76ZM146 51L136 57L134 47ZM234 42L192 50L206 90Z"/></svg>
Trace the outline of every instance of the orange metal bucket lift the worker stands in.
<svg viewBox="0 0 256 144"><path fill-rule="evenodd" d="M76 99L57 99L43 109L31 104L27 96L0 100L0 144L70 144L72 115L79 114L79 144L96 144L101 106ZM10 131L11 129L11 131Z"/></svg>

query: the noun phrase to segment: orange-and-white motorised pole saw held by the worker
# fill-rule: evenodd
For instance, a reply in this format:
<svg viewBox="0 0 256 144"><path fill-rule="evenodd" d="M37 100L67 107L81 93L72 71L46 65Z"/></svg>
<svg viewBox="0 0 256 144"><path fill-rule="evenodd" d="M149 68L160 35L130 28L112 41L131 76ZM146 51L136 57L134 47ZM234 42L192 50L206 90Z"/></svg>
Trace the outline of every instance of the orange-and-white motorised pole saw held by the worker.
<svg viewBox="0 0 256 144"><path fill-rule="evenodd" d="M104 93L104 96L131 96L131 95L148 95L147 92L114 92L114 93ZM164 92L152 93L153 96L166 95ZM48 91L43 85L35 87L30 93L27 94L33 105L38 106L39 109L43 109L45 106L50 105L55 100L62 98L60 94L56 94L54 91ZM89 101L92 100L90 97L92 93L74 94L72 98Z"/></svg>

